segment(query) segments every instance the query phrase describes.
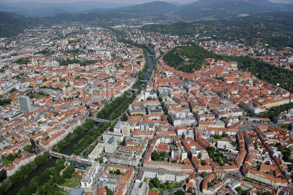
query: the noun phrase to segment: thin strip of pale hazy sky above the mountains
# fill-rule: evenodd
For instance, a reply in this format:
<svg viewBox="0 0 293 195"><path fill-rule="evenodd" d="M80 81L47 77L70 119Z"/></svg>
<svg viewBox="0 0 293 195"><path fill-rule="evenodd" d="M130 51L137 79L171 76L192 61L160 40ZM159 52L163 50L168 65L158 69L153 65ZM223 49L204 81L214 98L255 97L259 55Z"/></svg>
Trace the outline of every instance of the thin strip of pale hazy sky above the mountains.
<svg viewBox="0 0 293 195"><path fill-rule="evenodd" d="M48 3L71 3L77 1L95 1L95 0L0 0L0 3L14 3L14 2L48 2ZM127 3L127 4L141 4L155 0L98 0L98 2L107 3ZM161 0L167 2L174 2L176 0ZM188 3L195 0L177 0L177 2ZM207 0L208 1L208 0ZM255 0L257 1L257 0ZM293 3L293 0L269 0L274 3Z"/></svg>

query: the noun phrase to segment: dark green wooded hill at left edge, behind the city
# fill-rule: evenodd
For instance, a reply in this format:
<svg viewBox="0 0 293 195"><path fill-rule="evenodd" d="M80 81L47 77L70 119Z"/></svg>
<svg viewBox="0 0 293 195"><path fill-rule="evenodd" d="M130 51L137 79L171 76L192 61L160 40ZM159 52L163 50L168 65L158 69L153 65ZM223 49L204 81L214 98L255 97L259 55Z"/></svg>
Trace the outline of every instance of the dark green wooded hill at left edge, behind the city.
<svg viewBox="0 0 293 195"><path fill-rule="evenodd" d="M22 33L33 25L51 25L59 21L53 18L32 18L16 13L0 12L0 37L11 37Z"/></svg>

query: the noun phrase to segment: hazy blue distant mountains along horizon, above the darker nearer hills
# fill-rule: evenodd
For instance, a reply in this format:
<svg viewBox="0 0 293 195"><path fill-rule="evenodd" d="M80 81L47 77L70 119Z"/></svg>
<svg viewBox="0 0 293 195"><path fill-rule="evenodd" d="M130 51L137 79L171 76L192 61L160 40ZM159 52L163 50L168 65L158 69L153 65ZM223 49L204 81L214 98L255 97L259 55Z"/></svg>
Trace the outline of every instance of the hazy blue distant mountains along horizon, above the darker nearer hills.
<svg viewBox="0 0 293 195"><path fill-rule="evenodd" d="M31 17L54 17L56 14L69 13L72 15L95 14L100 19L112 19L113 17L129 18L131 16L145 16L150 13L158 16L166 14L175 15L183 19L204 19L205 17L229 19L241 13L255 14L268 11L292 10L293 4L272 3L268 0L199 0L188 4L153 1L139 5L96 1L75 3L0 3L0 11L18 13ZM78 20L78 18L76 19Z"/></svg>

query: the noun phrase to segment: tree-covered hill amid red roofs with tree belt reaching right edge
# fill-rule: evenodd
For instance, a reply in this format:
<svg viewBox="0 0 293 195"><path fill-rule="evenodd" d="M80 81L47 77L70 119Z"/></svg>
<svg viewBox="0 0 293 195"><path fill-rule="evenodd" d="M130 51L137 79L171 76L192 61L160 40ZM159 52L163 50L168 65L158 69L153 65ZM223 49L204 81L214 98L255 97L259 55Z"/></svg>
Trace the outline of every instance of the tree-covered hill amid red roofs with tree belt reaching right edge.
<svg viewBox="0 0 293 195"><path fill-rule="evenodd" d="M163 57L163 60L169 66L184 72L194 72L194 70L200 69L201 65L205 64L204 59L210 57L216 60L237 61L240 69L252 72L263 81L275 85L279 83L282 88L293 92L293 71L247 56L217 55L203 49L194 42L185 44L173 48ZM189 60L187 61L187 59Z"/></svg>

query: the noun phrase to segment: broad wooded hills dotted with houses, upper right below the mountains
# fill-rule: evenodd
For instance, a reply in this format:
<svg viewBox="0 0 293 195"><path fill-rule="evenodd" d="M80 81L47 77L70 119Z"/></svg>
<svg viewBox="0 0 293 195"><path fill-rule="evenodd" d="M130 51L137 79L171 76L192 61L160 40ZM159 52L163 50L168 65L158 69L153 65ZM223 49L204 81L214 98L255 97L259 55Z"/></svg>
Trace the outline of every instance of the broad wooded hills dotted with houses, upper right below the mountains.
<svg viewBox="0 0 293 195"><path fill-rule="evenodd" d="M268 12L233 20L176 22L173 24L144 25L141 30L163 34L212 37L213 40L268 44L271 49L293 47L293 12ZM274 36L272 36L274 35Z"/></svg>

